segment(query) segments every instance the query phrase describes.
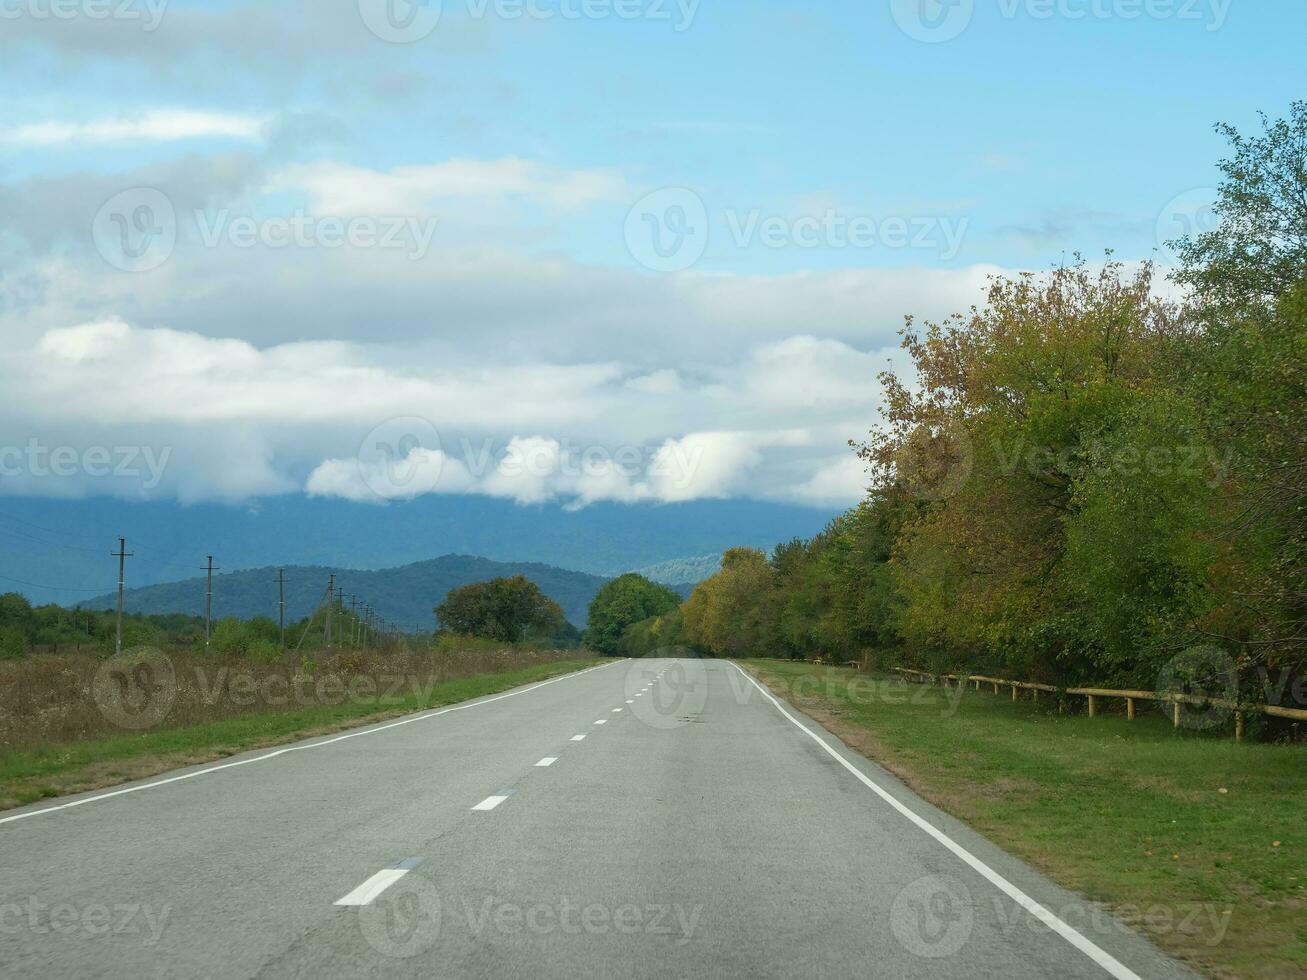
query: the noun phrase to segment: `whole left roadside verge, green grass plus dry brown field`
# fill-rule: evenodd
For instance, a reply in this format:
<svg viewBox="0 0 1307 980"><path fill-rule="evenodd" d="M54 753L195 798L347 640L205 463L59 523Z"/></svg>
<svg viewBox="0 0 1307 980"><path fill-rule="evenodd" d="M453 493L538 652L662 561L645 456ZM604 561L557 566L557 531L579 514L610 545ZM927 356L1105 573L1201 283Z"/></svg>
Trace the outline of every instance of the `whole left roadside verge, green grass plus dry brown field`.
<svg viewBox="0 0 1307 980"><path fill-rule="evenodd" d="M600 662L583 657L580 651L508 649L342 655L307 673L289 662L174 653L169 712L145 730L124 729L112 711L101 710L99 661L91 657L4 664L0 809L481 698Z"/></svg>

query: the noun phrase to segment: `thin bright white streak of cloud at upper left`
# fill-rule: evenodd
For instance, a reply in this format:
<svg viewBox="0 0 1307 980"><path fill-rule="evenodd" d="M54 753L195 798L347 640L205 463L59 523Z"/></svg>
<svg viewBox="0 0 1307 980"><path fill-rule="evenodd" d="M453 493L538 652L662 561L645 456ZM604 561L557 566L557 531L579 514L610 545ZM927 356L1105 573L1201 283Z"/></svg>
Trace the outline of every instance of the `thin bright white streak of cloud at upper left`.
<svg viewBox="0 0 1307 980"><path fill-rule="evenodd" d="M18 146L60 146L65 144L171 142L213 137L257 140L267 123L267 116L158 108L119 119L97 119L82 123L29 123L0 131L0 142Z"/></svg>

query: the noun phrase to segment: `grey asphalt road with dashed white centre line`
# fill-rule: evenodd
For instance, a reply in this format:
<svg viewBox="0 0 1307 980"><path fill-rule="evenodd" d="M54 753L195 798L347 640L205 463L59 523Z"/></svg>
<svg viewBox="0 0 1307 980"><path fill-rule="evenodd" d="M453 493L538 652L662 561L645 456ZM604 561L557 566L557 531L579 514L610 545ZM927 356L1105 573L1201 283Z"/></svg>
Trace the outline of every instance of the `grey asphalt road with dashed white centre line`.
<svg viewBox="0 0 1307 980"><path fill-rule="evenodd" d="M1189 976L721 661L13 810L0 869L7 977Z"/></svg>

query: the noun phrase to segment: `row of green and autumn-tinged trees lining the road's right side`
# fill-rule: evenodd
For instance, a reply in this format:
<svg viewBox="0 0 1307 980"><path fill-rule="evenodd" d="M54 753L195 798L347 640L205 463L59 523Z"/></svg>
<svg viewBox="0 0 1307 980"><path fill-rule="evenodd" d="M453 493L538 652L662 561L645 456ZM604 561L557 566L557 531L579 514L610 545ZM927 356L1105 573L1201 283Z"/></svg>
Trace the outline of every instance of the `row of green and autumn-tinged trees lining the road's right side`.
<svg viewBox="0 0 1307 980"><path fill-rule="evenodd" d="M1227 125L1214 230L908 318L867 498L735 549L626 652L880 657L1151 686L1196 649L1307 666L1307 102ZM1179 295L1167 299L1168 294ZM625 644L625 647L622 647Z"/></svg>

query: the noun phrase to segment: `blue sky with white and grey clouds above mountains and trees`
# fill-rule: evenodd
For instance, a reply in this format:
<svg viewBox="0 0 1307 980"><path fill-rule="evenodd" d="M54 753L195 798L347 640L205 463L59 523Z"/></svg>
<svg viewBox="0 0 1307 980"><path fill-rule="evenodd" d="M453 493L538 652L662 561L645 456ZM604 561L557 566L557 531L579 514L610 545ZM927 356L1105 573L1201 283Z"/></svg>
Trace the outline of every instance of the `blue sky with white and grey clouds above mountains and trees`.
<svg viewBox="0 0 1307 980"><path fill-rule="evenodd" d="M1300 0L0 0L0 495L843 507L904 315L1174 261Z"/></svg>

